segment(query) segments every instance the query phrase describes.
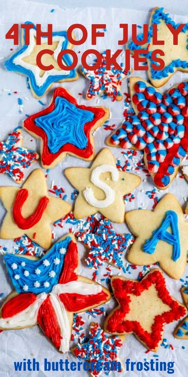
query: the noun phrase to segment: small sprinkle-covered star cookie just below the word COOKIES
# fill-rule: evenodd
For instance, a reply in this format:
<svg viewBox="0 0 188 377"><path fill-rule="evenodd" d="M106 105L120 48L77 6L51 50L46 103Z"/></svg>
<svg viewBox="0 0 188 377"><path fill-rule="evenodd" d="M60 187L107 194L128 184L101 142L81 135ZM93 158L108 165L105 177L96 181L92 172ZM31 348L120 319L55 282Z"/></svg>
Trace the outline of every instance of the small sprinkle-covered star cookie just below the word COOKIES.
<svg viewBox="0 0 188 377"><path fill-rule="evenodd" d="M82 74L89 79L89 88L86 98L91 100L105 92L109 97L112 97L112 101L121 101L121 80L129 76L132 71L127 71L124 67L121 67L122 70L118 70L113 64L111 64L111 70L106 70L106 51L104 51L101 56L102 64L100 68L91 71L83 66L81 67Z"/></svg>

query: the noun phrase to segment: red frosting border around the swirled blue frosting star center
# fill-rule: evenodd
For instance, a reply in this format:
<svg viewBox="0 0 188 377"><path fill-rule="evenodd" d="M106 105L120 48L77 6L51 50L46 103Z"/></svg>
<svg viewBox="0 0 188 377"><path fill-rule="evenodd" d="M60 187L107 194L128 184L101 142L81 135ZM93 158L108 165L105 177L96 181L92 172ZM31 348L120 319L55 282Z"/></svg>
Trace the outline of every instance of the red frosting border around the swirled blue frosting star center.
<svg viewBox="0 0 188 377"><path fill-rule="evenodd" d="M89 110L92 113L94 113L94 119L91 122L85 123L85 126L84 126L84 132L85 132L86 138L88 139L88 144L85 149L79 149L73 146L72 144L67 143L64 146L62 146L58 152L56 153L50 152L49 147L48 147L47 134L45 133L44 130L42 130L42 128L36 126L35 119L38 118L39 116L47 115L55 109L56 97L63 97L66 100L68 100L70 103L73 103L78 109ZM66 89L64 89L63 87L58 87L53 92L52 103L50 104L50 106L47 107L47 109L44 109L36 114L30 115L28 118L26 118L26 120L24 120L23 126L28 132L35 133L35 135L39 136L39 138L42 139L43 147L42 147L42 153L41 153L41 160L42 160L43 165L49 166L63 152L71 152L79 157L89 158L94 152L93 146L90 140L91 130L95 126L96 122L99 119L103 118L104 115L105 115L105 110L102 107L79 105L76 99L72 97L71 94L68 93Z"/></svg>

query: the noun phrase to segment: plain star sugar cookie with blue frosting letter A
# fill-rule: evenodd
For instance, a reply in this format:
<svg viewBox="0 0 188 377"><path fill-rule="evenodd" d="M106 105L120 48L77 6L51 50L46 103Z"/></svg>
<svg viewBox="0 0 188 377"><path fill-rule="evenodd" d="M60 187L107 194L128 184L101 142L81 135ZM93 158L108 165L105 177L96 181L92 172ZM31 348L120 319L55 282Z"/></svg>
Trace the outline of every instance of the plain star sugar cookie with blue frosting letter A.
<svg viewBox="0 0 188 377"><path fill-rule="evenodd" d="M159 262L173 279L180 279L186 267L188 222L173 194L166 194L153 211L126 213L125 221L135 236L127 259L132 264Z"/></svg>

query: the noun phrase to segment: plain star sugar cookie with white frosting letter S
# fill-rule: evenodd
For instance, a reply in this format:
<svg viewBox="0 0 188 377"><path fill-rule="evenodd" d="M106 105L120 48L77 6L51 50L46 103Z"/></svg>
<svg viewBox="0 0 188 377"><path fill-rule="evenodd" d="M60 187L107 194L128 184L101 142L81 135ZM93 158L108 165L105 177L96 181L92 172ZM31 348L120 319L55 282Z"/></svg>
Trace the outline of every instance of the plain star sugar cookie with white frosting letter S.
<svg viewBox="0 0 188 377"><path fill-rule="evenodd" d="M65 176L79 190L74 205L76 219L99 211L111 221L123 222L123 196L141 182L135 174L117 169L115 158L108 148L98 153L90 168L70 167L65 169Z"/></svg>

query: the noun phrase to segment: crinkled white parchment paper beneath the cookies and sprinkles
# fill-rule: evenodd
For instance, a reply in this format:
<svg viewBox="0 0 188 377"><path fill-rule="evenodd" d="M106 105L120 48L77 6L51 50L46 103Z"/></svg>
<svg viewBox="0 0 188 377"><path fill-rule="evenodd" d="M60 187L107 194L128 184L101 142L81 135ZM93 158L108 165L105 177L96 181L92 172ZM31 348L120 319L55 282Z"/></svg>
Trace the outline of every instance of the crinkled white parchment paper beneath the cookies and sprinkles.
<svg viewBox="0 0 188 377"><path fill-rule="evenodd" d="M67 2L68 5L68 2ZM26 84L26 77L18 75L16 73L8 72L8 70L4 67L4 61L8 58L11 54L10 49L13 48L14 51L17 50L17 46L13 45L12 40L5 40L5 34L8 29L12 26L13 23L23 23L24 21L32 21L33 23L41 23L42 29L45 30L47 23L53 24L53 30L66 30L68 26L73 23L82 23L86 26L88 30L88 39L85 44L82 46L75 46L75 51L85 51L88 48L91 48L91 23L106 23L107 31L105 32L105 38L98 38L96 49L99 51L105 50L105 48L110 48L112 51L116 51L118 49L117 41L118 39L122 39L121 30L118 28L120 23L137 23L139 25L143 25L148 21L148 14L146 11L136 11L130 9L103 9L103 8L83 8L83 9L60 9L56 6L52 5L42 5L39 3L33 3L24 0L2 0L0 3L1 12L0 12L0 57L3 57L0 61L0 139L6 139L8 132L11 132L15 127L22 124L24 120L25 114L32 114L36 113L41 110L43 107L39 104L38 100L32 97L30 90L27 88ZM51 9L55 9L52 13L50 12ZM167 9L169 11L169 9ZM186 23L186 17L180 17L177 15L171 15L176 22ZM130 31L129 31L130 32ZM77 35L79 36L79 35ZM95 48L95 47L94 47ZM81 54L78 54L79 58ZM123 57L121 57L123 60ZM80 64L80 63L79 63ZM133 75L140 76L146 78L146 74L142 71L135 72ZM181 74L180 72L176 73L171 80L165 85L164 88L161 90L168 90L170 86L179 83L183 79L186 79L188 75ZM58 86L58 84L53 85L53 89ZM79 103L83 104L92 104L96 105L97 99L94 99L88 103L85 100L85 93L86 88L88 87L88 81L79 76L77 81L73 83L64 83L64 86L71 91L71 93L77 98ZM3 91L3 89L10 89L11 95L8 95L8 92ZM48 106L50 101L52 90L42 98L42 102ZM17 91L17 94L13 94L14 91ZM83 93L83 96L78 95L78 93ZM122 92L127 92L127 81L124 80L122 84ZM28 97L29 100L24 100L24 96ZM18 113L18 100L17 98L20 97L23 99L23 113ZM111 120L109 124L116 124L116 126L121 124L123 119L123 101L114 102L112 103L111 99L107 98L103 100L100 98L98 105L104 105L109 107L112 113ZM106 131L101 127L97 130L95 136L95 146L96 152L102 149L105 146L105 138L109 135L110 131ZM39 143L30 137L30 135L23 131L24 136L24 146L37 149L39 151ZM30 139L33 139L31 142ZM114 153L115 157L121 157L121 162L124 164L124 157L121 154L121 149L118 148L111 148L112 153ZM139 153L137 158L139 159ZM135 161L131 161L132 170L135 168ZM186 161L184 162L186 164ZM47 178L47 184L50 188L52 180L54 180L55 184L61 187L64 187L65 193L67 194L67 200L71 202L70 196L73 188L67 182L64 177L64 169L69 166L89 166L89 163L84 162L80 159L73 158L67 156L67 158L61 162L58 166L52 169ZM29 170L26 171L26 177L36 167L40 167L40 163L36 162L32 164ZM140 171L135 171L135 173L140 174L141 177L144 179L146 178L145 173ZM179 199L180 203L183 205L183 209L185 209L185 199L188 193L188 183L185 179L180 179L179 174L177 178L174 179L173 183L171 184L170 188L165 190L165 192L171 192L176 195ZM0 176L0 185L14 185L14 182L11 178L5 175ZM142 182L141 185L134 191L135 193L135 200L132 202L128 202L126 205L126 210L133 210L138 207L144 207L147 209L152 209L153 200L149 199L146 195L147 190L153 189L153 182L150 177L146 178L145 182ZM141 192L141 190L144 190ZM158 193L158 197L161 198L164 191ZM3 208L2 204L0 204L0 219L3 219L5 215L5 209ZM64 228L61 229L59 227L54 228L56 233L56 237L59 238L63 234L67 233L70 224L65 224ZM114 224L115 230L118 232L126 233L127 228L125 224ZM1 246L8 247L9 252L14 251L14 242L13 241L0 241ZM86 250L83 245L79 244L79 256L80 256L80 267L79 273L85 276L92 276L92 270L89 270L85 267L84 258L86 256ZM3 264L3 258L0 256L0 292L4 293L2 300L12 291L12 284L8 273L6 271L5 265ZM124 260L126 262L126 260ZM103 277L103 274L106 272L107 265L103 266L100 269L99 278ZM138 272L142 270L142 267L138 267L137 270L130 270L131 274L130 278L135 278L138 276ZM118 271L113 268L113 274L116 274ZM123 272L121 272L123 274ZM183 276L188 274L188 268ZM180 287L182 283L179 280L173 280L165 274L167 280L167 287L170 290L170 293L176 297L177 299L181 300L180 296ZM112 307L114 307L115 302L113 300L110 301L106 305L106 312L108 313ZM84 319L86 320L85 323L85 331L88 334L89 322L88 315L83 315ZM97 320L103 325L104 317L98 316ZM188 342L181 341L174 339L172 333L174 328L176 327L177 323L171 323L165 327L164 337L167 339L168 344L173 344L174 351L169 348L164 348L162 346L159 347L157 354L159 355L160 361L174 361L175 362L175 372L174 376L176 377L184 377L187 375L187 362L188 362ZM182 346L185 346L185 349L182 349ZM120 357L122 361L126 358L130 358L132 361L142 361L144 358L147 357L148 360L153 358L153 352L149 352L149 354L145 354L146 349L144 348L141 343L136 340L133 335L129 335L126 337L126 341L121 348ZM39 372L15 372L14 371L14 361L21 361L23 358L36 358L37 361L40 363L40 371ZM58 361L59 359L67 358L71 361L77 361L76 358L72 356L71 353L66 355L59 354L55 348L53 348L52 344L45 338L42 334L42 331L39 329L38 326L27 328L23 330L12 330L12 331L4 331L0 334L0 377L12 377L15 375L22 376L35 376L35 377L42 377L43 375L46 376L70 376L73 375L77 376L87 376L87 372L44 372L43 364L44 358L47 357L49 361ZM136 377L142 375L145 376L165 376L167 372L126 372L124 371L121 375L124 376L131 376ZM114 376L114 372L111 374ZM117 373L116 373L117 375Z"/></svg>

